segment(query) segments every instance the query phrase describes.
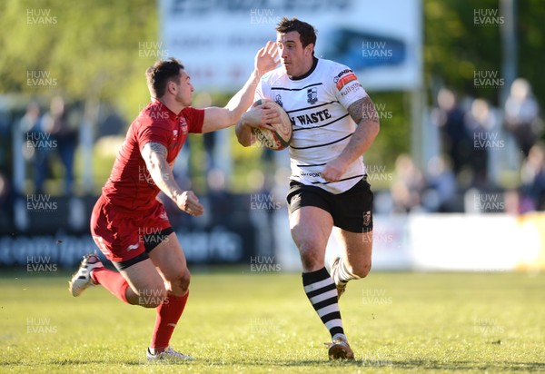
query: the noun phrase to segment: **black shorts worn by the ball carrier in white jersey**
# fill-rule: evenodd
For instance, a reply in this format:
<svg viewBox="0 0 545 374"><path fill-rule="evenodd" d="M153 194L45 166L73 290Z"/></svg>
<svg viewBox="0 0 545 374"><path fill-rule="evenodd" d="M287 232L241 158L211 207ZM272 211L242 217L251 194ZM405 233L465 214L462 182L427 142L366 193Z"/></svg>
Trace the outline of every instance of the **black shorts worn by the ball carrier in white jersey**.
<svg viewBox="0 0 545 374"><path fill-rule="evenodd" d="M290 214L303 206L314 206L332 215L333 225L345 231L372 231L373 194L367 178L342 193L331 193L320 187L291 181L287 196Z"/></svg>

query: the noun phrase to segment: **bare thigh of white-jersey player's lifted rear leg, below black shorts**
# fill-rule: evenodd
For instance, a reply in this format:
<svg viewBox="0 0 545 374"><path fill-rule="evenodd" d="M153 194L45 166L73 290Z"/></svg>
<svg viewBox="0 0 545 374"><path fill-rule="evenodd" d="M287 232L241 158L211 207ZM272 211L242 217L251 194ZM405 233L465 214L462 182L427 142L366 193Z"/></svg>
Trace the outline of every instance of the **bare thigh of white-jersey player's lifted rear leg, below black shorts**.
<svg viewBox="0 0 545 374"><path fill-rule="evenodd" d="M352 232L335 227L333 233L349 270L360 277L367 276L372 265L372 231Z"/></svg>

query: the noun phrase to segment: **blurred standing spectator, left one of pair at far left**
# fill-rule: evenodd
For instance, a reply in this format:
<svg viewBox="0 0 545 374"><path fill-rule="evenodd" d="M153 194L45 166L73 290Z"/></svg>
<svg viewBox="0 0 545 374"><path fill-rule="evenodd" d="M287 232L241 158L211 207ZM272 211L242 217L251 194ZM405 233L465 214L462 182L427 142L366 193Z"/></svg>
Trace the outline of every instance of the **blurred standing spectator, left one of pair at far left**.
<svg viewBox="0 0 545 374"><path fill-rule="evenodd" d="M44 192L45 177L49 170L50 148L42 144L40 140L46 138L43 118L38 103L31 102L26 106L26 113L19 123L21 132L25 133L25 150L29 151L28 157L32 160L35 193ZM29 146L28 141L30 140Z"/></svg>

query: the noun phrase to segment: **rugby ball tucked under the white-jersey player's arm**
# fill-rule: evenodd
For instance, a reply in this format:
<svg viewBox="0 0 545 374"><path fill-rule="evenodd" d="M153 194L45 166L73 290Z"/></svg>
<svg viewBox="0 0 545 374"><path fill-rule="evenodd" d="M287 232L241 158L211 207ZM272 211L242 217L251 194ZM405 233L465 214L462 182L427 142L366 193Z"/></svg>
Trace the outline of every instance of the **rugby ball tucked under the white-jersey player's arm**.
<svg viewBox="0 0 545 374"><path fill-rule="evenodd" d="M274 131L261 127L253 127L252 133L255 137L255 141L272 151L281 151L292 143L292 121L290 120L288 113L282 109L282 106L274 103L272 100L260 99L253 103L252 107L261 105L262 103L270 104L272 108L278 112L280 115L280 122L268 123L274 127Z"/></svg>

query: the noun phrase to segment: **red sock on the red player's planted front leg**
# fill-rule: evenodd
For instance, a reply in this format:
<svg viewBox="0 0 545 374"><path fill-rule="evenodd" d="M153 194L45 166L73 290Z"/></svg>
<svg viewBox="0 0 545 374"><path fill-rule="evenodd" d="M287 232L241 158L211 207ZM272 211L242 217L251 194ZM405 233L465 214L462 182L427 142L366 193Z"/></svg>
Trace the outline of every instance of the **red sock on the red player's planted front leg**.
<svg viewBox="0 0 545 374"><path fill-rule="evenodd" d="M150 348L155 353L163 351L170 342L176 323L182 316L183 308L189 297L189 292L183 296L167 294L163 303L157 307L157 318L155 319L154 335Z"/></svg>

